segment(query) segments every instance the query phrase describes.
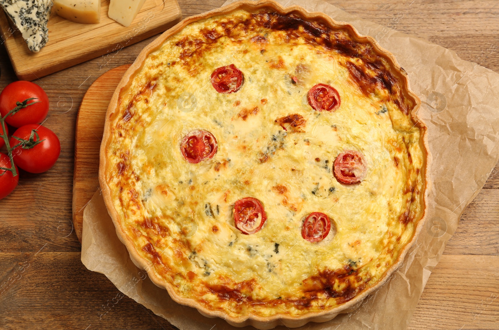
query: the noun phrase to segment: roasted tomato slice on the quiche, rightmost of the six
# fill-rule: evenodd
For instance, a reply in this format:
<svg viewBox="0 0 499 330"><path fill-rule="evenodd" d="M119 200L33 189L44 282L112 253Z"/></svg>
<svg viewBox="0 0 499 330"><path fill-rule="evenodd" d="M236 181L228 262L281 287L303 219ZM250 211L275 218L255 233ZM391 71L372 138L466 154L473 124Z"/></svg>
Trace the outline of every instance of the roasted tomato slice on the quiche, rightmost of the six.
<svg viewBox="0 0 499 330"><path fill-rule="evenodd" d="M355 150L347 150L336 157L334 174L343 183L356 183L366 176L366 162L364 155Z"/></svg>

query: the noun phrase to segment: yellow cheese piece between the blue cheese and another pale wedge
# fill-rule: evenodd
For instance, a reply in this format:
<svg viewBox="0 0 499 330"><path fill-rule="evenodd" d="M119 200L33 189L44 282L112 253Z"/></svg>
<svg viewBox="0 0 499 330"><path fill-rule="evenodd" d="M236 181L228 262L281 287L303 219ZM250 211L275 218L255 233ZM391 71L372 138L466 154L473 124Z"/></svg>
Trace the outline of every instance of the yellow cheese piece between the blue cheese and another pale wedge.
<svg viewBox="0 0 499 330"><path fill-rule="evenodd" d="M100 0L54 0L57 15L76 23L100 22Z"/></svg>

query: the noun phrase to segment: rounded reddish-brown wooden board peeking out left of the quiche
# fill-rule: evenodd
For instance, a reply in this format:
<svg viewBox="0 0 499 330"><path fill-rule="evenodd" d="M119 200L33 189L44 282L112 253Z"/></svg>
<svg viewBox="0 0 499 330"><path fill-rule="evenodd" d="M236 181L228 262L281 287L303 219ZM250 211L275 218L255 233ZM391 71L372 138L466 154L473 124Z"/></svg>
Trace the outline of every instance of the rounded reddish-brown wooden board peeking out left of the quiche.
<svg viewBox="0 0 499 330"><path fill-rule="evenodd" d="M97 78L81 100L74 142L73 225L81 243L83 210L99 187L99 150L107 106L130 64Z"/></svg>

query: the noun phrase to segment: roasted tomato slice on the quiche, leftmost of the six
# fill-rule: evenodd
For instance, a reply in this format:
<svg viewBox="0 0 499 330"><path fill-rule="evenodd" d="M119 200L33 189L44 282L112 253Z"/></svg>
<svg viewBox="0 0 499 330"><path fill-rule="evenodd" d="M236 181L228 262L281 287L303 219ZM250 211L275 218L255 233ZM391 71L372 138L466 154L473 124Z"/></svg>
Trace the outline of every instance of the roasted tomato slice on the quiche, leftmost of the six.
<svg viewBox="0 0 499 330"><path fill-rule="evenodd" d="M189 163L197 164L213 158L217 153L218 143L210 132L194 130L184 137L180 150Z"/></svg>

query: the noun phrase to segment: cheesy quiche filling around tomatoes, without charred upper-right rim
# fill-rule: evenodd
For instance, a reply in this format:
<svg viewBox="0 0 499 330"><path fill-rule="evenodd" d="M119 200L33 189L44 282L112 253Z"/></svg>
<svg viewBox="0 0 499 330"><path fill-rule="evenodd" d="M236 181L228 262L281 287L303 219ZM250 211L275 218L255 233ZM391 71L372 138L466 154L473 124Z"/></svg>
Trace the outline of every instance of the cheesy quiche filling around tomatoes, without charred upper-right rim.
<svg viewBox="0 0 499 330"><path fill-rule="evenodd" d="M234 24L230 32L224 23ZM193 22L147 56L111 117L105 175L148 271L177 295L233 317L322 311L383 278L424 209L422 131L386 89L366 93L347 63L364 65L243 10ZM244 84L217 93L210 76L229 64ZM335 112L308 104L317 83L339 92ZM299 128L276 123L294 114L304 120ZM192 130L215 136L213 159L184 159L180 145ZM358 184L333 174L345 150L365 157ZM233 216L248 196L267 215L251 235ZM301 236L311 212L332 219L318 243Z"/></svg>

